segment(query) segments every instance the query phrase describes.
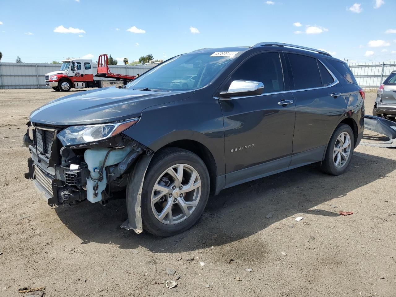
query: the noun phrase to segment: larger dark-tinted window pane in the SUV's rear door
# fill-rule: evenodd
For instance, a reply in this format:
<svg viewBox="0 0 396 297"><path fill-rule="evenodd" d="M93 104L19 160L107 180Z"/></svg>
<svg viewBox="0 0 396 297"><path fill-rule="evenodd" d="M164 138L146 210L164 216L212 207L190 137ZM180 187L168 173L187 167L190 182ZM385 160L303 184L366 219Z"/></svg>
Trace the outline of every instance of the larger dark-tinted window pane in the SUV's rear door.
<svg viewBox="0 0 396 297"><path fill-rule="evenodd" d="M288 53L287 56L293 73L294 89L322 87L319 67L315 58L294 53Z"/></svg>

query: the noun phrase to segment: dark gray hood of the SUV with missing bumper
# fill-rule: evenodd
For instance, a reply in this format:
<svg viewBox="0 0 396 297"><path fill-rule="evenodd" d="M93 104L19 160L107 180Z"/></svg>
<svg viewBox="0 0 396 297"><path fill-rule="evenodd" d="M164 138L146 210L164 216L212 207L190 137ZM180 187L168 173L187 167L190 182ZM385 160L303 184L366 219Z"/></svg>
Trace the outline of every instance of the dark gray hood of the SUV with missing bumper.
<svg viewBox="0 0 396 297"><path fill-rule="evenodd" d="M127 120L147 107L187 99L194 91L152 92L114 87L75 91L55 99L30 114L30 121L57 126Z"/></svg>

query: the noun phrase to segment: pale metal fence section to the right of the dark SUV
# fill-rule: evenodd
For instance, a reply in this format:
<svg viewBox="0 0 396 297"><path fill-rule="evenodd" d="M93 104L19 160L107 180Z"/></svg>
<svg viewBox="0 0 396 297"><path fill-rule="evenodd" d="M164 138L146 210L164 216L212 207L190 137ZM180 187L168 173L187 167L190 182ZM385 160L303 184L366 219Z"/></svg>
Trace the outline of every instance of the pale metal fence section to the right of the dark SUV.
<svg viewBox="0 0 396 297"><path fill-rule="evenodd" d="M396 61L382 63L353 63L350 70L362 88L378 88L390 72L396 70Z"/></svg>

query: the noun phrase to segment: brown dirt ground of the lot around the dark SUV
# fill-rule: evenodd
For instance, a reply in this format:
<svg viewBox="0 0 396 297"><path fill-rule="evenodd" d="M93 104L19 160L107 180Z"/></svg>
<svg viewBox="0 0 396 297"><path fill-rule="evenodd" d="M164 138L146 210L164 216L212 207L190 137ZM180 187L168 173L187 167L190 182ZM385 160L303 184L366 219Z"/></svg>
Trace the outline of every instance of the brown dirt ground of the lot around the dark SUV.
<svg viewBox="0 0 396 297"><path fill-rule="evenodd" d="M24 178L29 114L60 95L0 90L0 296L396 296L396 150L358 146L337 177L313 164L229 188L156 238L120 228L124 200L50 208Z"/></svg>

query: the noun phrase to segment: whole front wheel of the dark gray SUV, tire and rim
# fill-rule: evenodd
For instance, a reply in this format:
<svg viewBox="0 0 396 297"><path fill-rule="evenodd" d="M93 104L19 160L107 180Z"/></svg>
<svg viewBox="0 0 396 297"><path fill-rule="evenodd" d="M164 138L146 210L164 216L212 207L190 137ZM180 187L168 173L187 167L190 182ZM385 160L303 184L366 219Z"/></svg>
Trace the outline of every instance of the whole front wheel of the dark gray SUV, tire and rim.
<svg viewBox="0 0 396 297"><path fill-rule="evenodd" d="M143 230L171 236L192 227L209 198L210 180L204 162L181 148L156 153L142 189Z"/></svg>

